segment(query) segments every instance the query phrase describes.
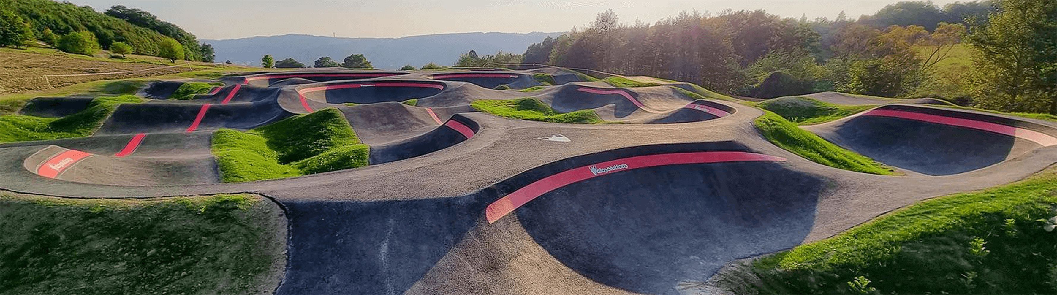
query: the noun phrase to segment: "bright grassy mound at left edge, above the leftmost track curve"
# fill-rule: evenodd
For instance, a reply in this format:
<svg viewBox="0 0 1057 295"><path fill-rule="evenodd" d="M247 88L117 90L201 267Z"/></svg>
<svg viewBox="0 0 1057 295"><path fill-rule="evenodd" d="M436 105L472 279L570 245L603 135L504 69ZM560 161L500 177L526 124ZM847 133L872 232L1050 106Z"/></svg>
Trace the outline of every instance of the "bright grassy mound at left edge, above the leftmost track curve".
<svg viewBox="0 0 1057 295"><path fill-rule="evenodd" d="M92 135L122 104L143 103L134 95L98 97L88 108L64 117L0 116L0 143L43 141Z"/></svg>

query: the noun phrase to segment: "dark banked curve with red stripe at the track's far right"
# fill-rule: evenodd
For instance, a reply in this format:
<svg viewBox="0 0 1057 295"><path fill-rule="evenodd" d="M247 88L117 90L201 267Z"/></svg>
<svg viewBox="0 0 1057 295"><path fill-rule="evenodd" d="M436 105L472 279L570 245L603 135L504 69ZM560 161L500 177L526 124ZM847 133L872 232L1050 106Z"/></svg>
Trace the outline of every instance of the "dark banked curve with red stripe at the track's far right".
<svg viewBox="0 0 1057 295"><path fill-rule="evenodd" d="M885 164L928 176L967 172L1057 145L1057 128L1050 126L910 105L883 106L809 129Z"/></svg>

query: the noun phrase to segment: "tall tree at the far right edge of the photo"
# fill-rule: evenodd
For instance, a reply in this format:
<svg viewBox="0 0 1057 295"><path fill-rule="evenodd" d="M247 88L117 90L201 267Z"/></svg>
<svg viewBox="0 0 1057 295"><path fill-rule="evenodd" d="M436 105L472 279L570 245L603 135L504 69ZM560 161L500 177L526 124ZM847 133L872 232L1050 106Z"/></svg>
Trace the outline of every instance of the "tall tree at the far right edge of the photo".
<svg viewBox="0 0 1057 295"><path fill-rule="evenodd" d="M1057 114L1057 1L999 0L973 23L972 93L978 105Z"/></svg>

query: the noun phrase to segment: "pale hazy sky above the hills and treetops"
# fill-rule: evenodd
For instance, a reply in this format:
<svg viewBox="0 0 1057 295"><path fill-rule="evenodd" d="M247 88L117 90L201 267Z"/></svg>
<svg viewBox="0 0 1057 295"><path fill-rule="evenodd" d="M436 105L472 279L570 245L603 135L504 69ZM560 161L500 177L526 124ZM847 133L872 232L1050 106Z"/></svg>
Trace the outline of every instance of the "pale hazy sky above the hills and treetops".
<svg viewBox="0 0 1057 295"><path fill-rule="evenodd" d="M104 12L123 4L157 15L202 39L288 33L403 37L462 32L562 32L613 8L622 22L654 22L681 11L766 10L787 17L873 14L897 0L69 0ZM953 0L933 0L939 5Z"/></svg>

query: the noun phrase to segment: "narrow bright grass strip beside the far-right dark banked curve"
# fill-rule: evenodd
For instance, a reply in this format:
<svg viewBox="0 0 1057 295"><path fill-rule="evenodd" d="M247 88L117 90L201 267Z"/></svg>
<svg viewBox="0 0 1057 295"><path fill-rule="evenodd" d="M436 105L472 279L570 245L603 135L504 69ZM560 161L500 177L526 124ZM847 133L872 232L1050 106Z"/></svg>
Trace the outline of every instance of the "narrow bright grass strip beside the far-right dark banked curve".
<svg viewBox="0 0 1057 295"><path fill-rule="evenodd" d="M834 168L883 176L895 174L891 167L827 142L773 112L764 112L766 113L757 117L754 124L776 146Z"/></svg>

